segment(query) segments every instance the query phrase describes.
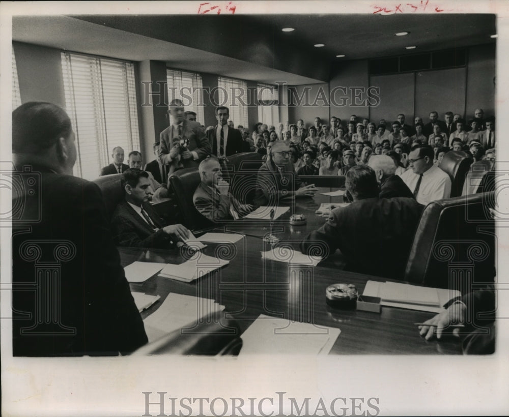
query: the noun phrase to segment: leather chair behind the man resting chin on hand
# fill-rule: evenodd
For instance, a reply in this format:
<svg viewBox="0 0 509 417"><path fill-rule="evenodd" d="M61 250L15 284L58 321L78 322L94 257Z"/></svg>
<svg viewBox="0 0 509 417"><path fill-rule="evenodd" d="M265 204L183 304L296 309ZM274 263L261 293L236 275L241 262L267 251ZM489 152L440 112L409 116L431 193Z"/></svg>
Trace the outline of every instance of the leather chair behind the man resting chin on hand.
<svg viewBox="0 0 509 417"><path fill-rule="evenodd" d="M214 225L196 210L192 201L194 191L200 182L200 173L197 168L179 169L169 176L169 184L175 193L183 224L192 231Z"/></svg>

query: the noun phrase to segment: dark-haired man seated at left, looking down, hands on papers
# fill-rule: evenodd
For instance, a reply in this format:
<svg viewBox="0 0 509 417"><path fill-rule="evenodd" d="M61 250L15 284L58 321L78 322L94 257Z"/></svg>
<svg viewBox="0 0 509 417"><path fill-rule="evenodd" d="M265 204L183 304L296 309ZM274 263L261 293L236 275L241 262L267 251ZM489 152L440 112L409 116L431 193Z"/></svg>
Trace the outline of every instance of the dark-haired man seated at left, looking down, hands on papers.
<svg viewBox="0 0 509 417"><path fill-rule="evenodd" d="M173 248L189 239L189 230L181 224L164 226L148 203L152 195L149 175L141 169L129 168L122 174L125 200L111 217L111 228L119 246L137 248Z"/></svg>

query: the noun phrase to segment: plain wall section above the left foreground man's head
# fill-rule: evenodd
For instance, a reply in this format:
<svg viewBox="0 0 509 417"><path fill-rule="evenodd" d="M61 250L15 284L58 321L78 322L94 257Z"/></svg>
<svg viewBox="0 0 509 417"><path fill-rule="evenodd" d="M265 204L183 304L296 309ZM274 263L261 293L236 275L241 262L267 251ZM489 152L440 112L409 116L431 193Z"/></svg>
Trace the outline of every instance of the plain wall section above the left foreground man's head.
<svg viewBox="0 0 509 417"><path fill-rule="evenodd" d="M48 101L65 108L61 51L13 42L21 103Z"/></svg>

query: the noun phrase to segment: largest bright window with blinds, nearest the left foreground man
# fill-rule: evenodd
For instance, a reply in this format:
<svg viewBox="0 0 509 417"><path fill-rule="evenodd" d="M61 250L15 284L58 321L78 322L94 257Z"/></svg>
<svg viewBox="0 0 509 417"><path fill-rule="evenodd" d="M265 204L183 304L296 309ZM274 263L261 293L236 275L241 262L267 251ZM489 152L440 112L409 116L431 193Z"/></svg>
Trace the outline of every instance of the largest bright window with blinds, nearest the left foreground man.
<svg viewBox="0 0 509 417"><path fill-rule="evenodd" d="M139 151L134 66L75 53L62 53L66 109L78 157L74 174L87 180L99 176L116 146L125 155Z"/></svg>

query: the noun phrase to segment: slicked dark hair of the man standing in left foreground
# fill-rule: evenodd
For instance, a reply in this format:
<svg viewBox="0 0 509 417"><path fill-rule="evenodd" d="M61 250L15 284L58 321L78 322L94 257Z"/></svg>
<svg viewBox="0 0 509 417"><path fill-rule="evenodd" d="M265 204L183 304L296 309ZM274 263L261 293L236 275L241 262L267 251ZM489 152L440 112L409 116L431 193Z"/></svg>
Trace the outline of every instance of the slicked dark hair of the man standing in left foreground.
<svg viewBox="0 0 509 417"><path fill-rule="evenodd" d="M37 154L72 132L65 110L55 104L32 101L12 112L12 152Z"/></svg>

